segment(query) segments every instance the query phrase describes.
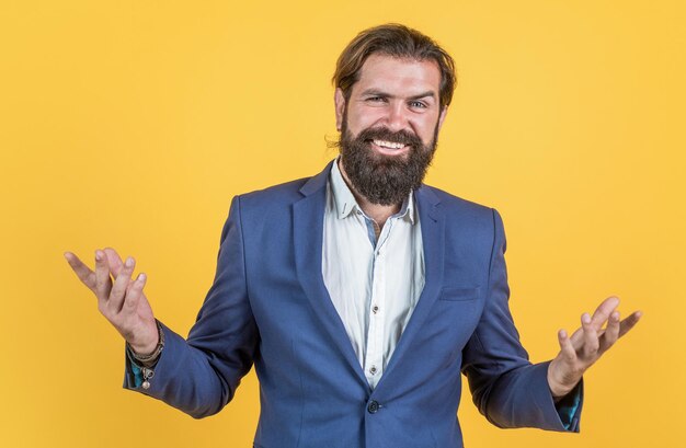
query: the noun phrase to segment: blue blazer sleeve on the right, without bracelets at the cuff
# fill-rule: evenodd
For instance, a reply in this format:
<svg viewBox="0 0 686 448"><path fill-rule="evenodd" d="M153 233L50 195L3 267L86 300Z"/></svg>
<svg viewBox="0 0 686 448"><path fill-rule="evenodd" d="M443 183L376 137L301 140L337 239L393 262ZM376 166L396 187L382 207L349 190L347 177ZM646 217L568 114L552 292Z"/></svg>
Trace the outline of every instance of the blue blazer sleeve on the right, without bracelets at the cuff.
<svg viewBox="0 0 686 448"><path fill-rule="evenodd" d="M493 246L483 314L464 349L462 372L479 411L495 426L579 432L583 384L573 415L562 422L548 387L547 363L533 365L519 342L508 307L505 232L493 212Z"/></svg>

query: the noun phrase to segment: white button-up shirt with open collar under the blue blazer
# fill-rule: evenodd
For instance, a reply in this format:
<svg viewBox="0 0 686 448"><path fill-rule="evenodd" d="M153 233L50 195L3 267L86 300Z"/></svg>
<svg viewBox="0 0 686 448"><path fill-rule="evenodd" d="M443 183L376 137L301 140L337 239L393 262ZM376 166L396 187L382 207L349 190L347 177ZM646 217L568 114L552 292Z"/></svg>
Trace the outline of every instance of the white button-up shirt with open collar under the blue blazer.
<svg viewBox="0 0 686 448"><path fill-rule="evenodd" d="M410 194L377 239L376 223L357 205L338 162L327 186L322 274L374 389L424 288L422 232Z"/></svg>

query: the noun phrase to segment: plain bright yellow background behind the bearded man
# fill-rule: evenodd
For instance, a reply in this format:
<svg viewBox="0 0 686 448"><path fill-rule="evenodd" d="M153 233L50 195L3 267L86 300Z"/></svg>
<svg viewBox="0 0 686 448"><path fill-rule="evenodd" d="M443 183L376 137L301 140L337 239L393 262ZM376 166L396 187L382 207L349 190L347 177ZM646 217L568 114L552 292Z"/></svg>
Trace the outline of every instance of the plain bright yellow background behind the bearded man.
<svg viewBox="0 0 686 448"><path fill-rule="evenodd" d="M0 446L248 447L251 372L203 421L122 390L124 346L62 259L136 256L186 334L239 193L335 153L330 77L397 21L456 58L427 182L496 207L534 360L610 294L643 321L586 375L581 435L490 426L468 447L683 438L686 33L674 1L0 1Z"/></svg>

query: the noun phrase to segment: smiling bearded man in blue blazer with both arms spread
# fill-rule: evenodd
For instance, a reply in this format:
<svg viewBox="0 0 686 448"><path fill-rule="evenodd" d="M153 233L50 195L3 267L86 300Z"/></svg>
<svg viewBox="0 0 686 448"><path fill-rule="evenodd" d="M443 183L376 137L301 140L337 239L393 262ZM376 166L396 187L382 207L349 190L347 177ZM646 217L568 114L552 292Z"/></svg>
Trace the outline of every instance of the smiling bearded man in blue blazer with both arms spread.
<svg viewBox="0 0 686 448"><path fill-rule="evenodd" d="M133 259L99 250L92 272L66 254L127 342L124 386L203 417L254 363L258 447L461 447L460 371L495 425L579 430L583 372L640 313L620 322L610 297L531 365L507 306L500 216L422 185L450 56L382 25L344 49L334 83L341 157L233 199L187 340L156 321Z"/></svg>

